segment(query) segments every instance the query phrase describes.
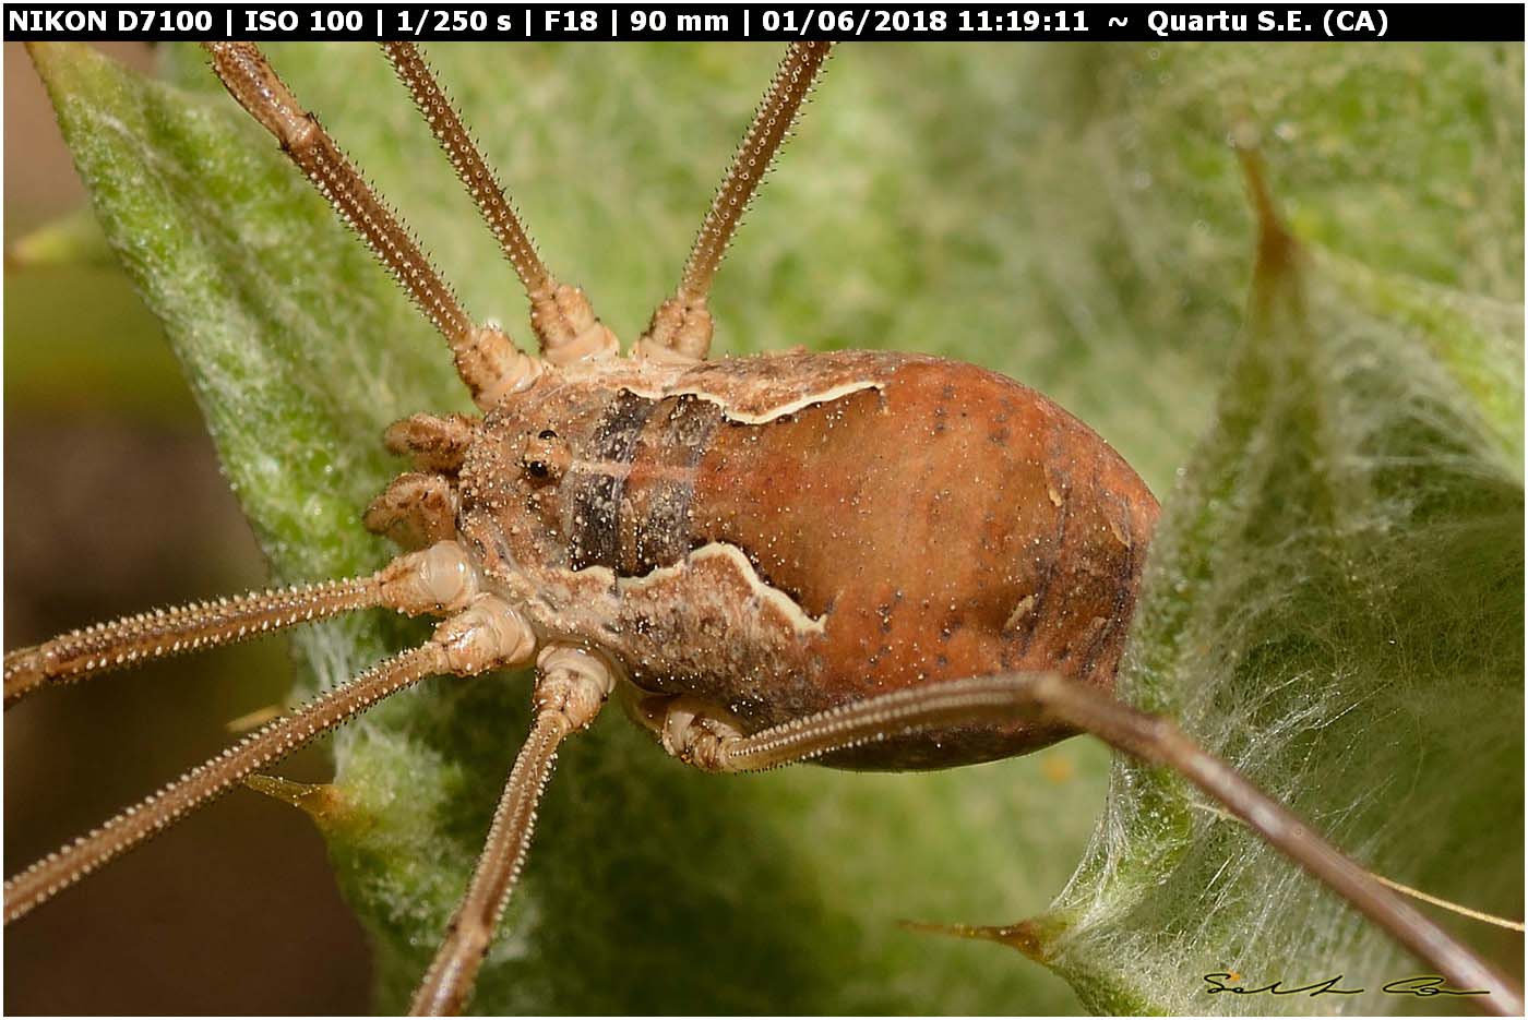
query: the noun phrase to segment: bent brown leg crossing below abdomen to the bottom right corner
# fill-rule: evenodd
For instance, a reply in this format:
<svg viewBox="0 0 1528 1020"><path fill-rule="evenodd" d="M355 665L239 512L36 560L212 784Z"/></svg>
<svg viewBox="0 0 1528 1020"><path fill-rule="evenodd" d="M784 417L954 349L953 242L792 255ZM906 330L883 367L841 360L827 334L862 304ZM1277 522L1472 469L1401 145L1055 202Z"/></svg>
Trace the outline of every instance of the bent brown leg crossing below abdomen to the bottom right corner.
<svg viewBox="0 0 1528 1020"><path fill-rule="evenodd" d="M1435 967L1458 988L1488 988L1481 1003L1522 1014L1522 989L1380 884L1245 776L1199 748L1170 721L1053 673L978 676L902 690L787 722L752 736L678 705L663 722L663 745L698 768L746 773L927 727L1042 716L1085 730L1146 762L1167 765L1225 805L1270 844Z"/></svg>

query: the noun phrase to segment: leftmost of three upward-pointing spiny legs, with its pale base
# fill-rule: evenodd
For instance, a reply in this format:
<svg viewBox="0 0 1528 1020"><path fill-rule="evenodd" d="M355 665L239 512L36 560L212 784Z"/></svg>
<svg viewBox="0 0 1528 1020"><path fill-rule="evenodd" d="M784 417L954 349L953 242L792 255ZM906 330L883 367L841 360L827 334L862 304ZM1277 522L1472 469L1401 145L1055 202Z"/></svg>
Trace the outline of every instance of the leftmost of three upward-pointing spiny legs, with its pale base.
<svg viewBox="0 0 1528 1020"><path fill-rule="evenodd" d="M319 194L371 249L419 310L446 337L457 373L484 411L535 380L539 368L497 327L480 327L461 308L399 217L377 197L318 119L277 76L254 43L205 43L212 70L260 124L277 136Z"/></svg>

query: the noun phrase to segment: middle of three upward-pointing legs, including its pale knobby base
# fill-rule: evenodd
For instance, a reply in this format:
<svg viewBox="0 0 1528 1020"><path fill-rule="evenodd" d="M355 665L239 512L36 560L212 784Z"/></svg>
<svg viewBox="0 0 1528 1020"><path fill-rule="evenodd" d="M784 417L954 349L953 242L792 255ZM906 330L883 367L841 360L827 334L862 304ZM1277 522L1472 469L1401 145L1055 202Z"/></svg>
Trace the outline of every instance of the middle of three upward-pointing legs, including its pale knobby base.
<svg viewBox="0 0 1528 1020"><path fill-rule="evenodd" d="M515 206L504 195L498 177L483 159L472 133L461 124L461 116L451 105L419 47L413 43L382 43L382 52L414 96L414 105L451 159L452 169L477 203L504 257L515 267L515 275L530 298L530 325L536 331L541 353L558 365L614 356L619 350L616 336L594 318L581 289L558 282L547 272Z"/></svg>

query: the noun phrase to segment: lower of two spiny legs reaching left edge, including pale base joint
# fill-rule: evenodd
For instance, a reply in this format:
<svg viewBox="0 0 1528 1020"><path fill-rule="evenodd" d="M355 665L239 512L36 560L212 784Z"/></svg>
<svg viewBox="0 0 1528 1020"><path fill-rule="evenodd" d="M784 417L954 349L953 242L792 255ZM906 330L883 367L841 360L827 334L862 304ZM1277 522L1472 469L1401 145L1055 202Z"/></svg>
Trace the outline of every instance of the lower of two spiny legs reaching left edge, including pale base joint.
<svg viewBox="0 0 1528 1020"><path fill-rule="evenodd" d="M263 727L93 832L28 867L5 884L5 922L26 916L107 861L228 792L255 770L281 760L384 698L413 687L426 676L471 676L524 663L533 650L535 635L520 614L497 596L478 596L465 612L435 628L426 644L319 695L290 716Z"/></svg>

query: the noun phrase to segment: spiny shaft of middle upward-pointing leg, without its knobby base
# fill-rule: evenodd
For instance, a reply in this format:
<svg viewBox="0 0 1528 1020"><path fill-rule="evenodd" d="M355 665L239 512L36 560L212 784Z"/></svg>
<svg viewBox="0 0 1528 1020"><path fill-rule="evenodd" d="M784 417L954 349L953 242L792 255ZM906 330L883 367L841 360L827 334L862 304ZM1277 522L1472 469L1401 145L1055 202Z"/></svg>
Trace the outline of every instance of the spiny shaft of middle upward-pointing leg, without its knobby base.
<svg viewBox="0 0 1528 1020"><path fill-rule="evenodd" d="M472 133L461 124L451 98L440 87L419 47L413 43L382 43L380 46L393 64L393 70L397 72L399 79L414 98L419 113L429 124L429 131L451 160L457 179L472 195L478 212L483 214L483 220L498 240L504 258L515 267L515 275L520 276L526 293L535 296L549 292L553 287L552 275L541 263L541 257L536 255L535 243L526 234L520 214L506 197L498 177L483 159Z"/></svg>

